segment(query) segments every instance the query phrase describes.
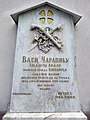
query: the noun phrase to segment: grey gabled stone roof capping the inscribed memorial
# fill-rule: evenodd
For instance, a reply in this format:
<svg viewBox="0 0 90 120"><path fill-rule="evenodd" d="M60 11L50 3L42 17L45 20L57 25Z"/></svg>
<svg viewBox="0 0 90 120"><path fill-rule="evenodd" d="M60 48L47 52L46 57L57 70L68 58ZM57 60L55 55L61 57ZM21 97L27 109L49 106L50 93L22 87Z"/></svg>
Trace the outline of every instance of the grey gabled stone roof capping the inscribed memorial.
<svg viewBox="0 0 90 120"><path fill-rule="evenodd" d="M68 15L73 16L74 25L76 25L77 22L81 19L80 15L78 15L76 13L73 13L73 12L71 12L71 11L65 9L65 8L62 8L61 6L58 6L58 5L56 5L56 4L52 3L52 2L42 2L42 3L39 3L37 5L31 6L30 8L27 8L27 9L24 9L22 11L16 12L16 13L12 14L11 17L13 18L13 20L15 21L15 23L18 24L18 16L20 14L28 12L30 10L33 10L35 8L41 7L43 5L49 5L49 6L53 7L53 8L56 8L56 9L62 11L62 12L67 13Z"/></svg>

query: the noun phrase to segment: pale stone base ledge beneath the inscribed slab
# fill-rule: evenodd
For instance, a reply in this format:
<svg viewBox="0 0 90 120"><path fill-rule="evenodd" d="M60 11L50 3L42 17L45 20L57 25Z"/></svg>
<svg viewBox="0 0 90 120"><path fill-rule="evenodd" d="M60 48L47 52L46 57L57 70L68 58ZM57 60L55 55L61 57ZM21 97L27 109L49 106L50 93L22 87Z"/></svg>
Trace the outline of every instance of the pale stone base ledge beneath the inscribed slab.
<svg viewBox="0 0 90 120"><path fill-rule="evenodd" d="M87 120L83 112L6 113L3 120Z"/></svg>

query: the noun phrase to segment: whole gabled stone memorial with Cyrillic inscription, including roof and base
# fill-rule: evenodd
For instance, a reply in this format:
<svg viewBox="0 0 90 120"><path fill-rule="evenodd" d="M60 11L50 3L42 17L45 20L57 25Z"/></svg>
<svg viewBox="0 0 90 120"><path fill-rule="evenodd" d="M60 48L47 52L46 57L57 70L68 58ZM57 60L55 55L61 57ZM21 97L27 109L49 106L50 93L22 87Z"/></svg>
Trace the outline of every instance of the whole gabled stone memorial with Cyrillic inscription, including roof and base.
<svg viewBox="0 0 90 120"><path fill-rule="evenodd" d="M11 15L17 27L10 111L4 119L85 119L75 71L81 16L44 2Z"/></svg>

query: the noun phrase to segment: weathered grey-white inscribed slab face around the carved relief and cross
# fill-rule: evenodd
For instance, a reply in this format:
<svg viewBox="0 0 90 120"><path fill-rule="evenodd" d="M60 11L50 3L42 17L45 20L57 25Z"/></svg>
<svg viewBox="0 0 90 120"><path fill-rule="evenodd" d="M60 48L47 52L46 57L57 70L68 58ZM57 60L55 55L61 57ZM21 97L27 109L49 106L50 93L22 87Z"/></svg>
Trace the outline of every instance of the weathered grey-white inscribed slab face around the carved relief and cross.
<svg viewBox="0 0 90 120"><path fill-rule="evenodd" d="M45 16L45 24L40 22L42 10L53 12L51 24L47 23L48 16ZM30 30L32 24L53 29L63 25L62 31L54 34L64 44L63 52L53 42L46 54L38 46L31 50L38 34ZM19 15L10 108L10 112L80 111L72 16L49 6Z"/></svg>

